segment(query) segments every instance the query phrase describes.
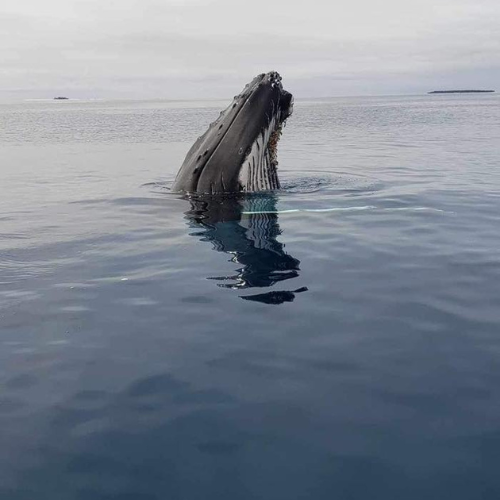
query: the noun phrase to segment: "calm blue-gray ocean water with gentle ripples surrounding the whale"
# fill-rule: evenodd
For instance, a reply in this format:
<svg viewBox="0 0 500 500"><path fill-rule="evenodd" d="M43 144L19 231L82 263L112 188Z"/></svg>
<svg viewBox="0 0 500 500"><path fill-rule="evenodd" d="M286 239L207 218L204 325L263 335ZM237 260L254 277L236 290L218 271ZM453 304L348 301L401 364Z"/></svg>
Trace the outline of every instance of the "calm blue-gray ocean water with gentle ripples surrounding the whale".
<svg viewBox="0 0 500 500"><path fill-rule="evenodd" d="M281 192L171 194L224 104L0 105L0 498L500 498L500 98L299 100Z"/></svg>

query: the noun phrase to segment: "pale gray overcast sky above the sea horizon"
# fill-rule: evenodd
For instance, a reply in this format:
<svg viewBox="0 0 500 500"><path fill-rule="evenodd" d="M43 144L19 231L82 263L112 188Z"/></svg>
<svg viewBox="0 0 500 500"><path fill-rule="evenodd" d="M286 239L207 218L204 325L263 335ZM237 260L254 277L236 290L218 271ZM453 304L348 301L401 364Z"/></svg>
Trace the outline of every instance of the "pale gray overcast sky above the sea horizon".
<svg viewBox="0 0 500 500"><path fill-rule="evenodd" d="M500 90L499 0L1 0L0 98Z"/></svg>

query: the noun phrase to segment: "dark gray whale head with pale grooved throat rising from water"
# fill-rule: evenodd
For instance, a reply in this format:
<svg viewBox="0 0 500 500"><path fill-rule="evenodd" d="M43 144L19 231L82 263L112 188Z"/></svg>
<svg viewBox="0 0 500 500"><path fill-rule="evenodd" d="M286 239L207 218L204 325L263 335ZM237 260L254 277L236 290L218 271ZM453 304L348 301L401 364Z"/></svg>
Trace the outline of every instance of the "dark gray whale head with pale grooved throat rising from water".
<svg viewBox="0 0 500 500"><path fill-rule="evenodd" d="M188 151L172 190L237 193L279 188L276 145L293 96L271 71L255 77Z"/></svg>

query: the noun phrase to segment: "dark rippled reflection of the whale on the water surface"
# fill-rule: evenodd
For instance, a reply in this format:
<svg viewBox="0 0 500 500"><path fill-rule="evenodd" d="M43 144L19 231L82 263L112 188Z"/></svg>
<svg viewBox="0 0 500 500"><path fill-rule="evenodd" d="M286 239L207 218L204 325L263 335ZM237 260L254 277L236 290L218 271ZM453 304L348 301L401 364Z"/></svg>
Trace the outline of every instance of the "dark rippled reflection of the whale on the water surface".
<svg viewBox="0 0 500 500"><path fill-rule="evenodd" d="M234 290L266 288L299 276L300 261L287 254L277 240L281 234L273 193L242 196L203 196L189 198L191 209L186 212L191 233L201 241L210 241L215 250L231 255L241 267L232 276L210 277L218 286ZM291 302L295 294L306 291L271 291L242 295L245 300L265 304Z"/></svg>

